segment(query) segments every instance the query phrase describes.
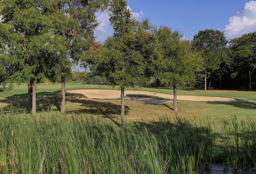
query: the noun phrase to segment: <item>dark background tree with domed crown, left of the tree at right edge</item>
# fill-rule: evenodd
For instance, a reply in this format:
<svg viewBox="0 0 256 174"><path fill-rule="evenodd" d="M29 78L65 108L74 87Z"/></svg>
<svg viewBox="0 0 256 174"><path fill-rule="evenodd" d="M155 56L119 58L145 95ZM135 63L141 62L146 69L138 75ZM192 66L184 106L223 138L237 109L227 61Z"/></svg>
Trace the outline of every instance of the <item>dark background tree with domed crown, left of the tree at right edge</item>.
<svg viewBox="0 0 256 174"><path fill-rule="evenodd" d="M225 47L227 43L228 41L224 36L224 32L220 32L220 30L200 30L197 34L194 35L192 44L196 50L202 52L202 56L204 57L205 92L207 88L207 77L211 77L209 83L210 88L210 84L214 78L214 73L219 70L223 56L227 55L225 54Z"/></svg>

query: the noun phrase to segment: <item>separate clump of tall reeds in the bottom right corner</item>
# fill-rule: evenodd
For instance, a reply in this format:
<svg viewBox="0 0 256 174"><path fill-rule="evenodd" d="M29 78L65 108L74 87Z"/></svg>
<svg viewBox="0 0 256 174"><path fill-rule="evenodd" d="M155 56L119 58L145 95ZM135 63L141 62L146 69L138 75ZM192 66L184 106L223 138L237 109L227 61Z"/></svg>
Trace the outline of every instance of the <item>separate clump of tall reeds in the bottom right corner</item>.
<svg viewBox="0 0 256 174"><path fill-rule="evenodd" d="M238 121L236 115L231 120L222 121L225 166L235 171L256 170L256 120L248 118Z"/></svg>

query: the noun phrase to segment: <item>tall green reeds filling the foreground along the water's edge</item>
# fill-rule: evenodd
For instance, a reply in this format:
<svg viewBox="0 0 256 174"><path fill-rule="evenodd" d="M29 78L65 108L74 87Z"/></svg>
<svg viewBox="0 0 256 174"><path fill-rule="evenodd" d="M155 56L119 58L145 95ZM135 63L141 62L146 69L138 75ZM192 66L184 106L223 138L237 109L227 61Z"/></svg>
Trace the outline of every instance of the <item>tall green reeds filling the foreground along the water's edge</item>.
<svg viewBox="0 0 256 174"><path fill-rule="evenodd" d="M176 116L172 122L169 118L164 116L154 123L130 123L124 130L114 123L83 114L65 116L49 111L31 116L1 111L0 163L4 171L0 172L185 174L210 171L214 144L210 120L201 123ZM247 127L240 127L247 136L239 139L239 153L242 149L246 153L239 162L252 168L256 162L255 122L249 123L243 122ZM226 145L230 150L230 144Z"/></svg>

